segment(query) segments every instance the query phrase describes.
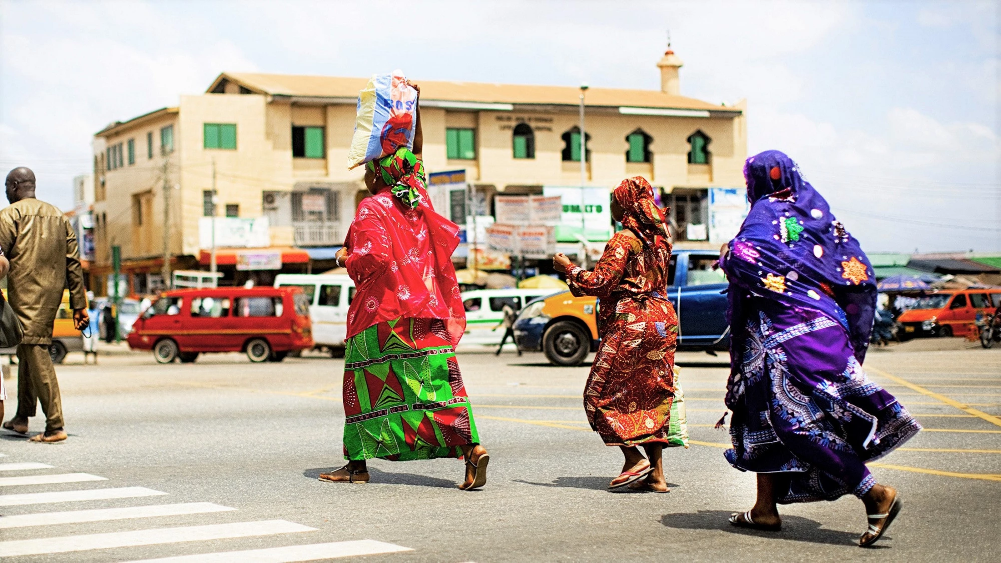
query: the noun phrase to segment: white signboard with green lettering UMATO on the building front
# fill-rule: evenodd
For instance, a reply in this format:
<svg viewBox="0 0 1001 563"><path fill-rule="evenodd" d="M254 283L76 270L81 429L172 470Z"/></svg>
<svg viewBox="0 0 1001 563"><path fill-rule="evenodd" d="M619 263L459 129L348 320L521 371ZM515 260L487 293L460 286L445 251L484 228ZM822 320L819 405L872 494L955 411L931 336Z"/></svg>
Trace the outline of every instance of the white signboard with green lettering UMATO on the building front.
<svg viewBox="0 0 1001 563"><path fill-rule="evenodd" d="M577 242L582 235L588 240L608 240L614 234L609 209L612 192L607 187L547 185L543 186L543 194L561 197L563 209L557 240Z"/></svg>

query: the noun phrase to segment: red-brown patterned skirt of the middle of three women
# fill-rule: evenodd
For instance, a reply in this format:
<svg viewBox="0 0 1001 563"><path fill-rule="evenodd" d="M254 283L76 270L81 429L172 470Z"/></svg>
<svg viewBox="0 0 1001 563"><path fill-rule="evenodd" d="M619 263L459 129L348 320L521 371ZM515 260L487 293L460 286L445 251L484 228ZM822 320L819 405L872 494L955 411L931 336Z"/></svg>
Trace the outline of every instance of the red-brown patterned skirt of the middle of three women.
<svg viewBox="0 0 1001 563"><path fill-rule="evenodd" d="M606 315L584 391L588 422L607 446L667 444L675 397L675 308L662 298L625 298Z"/></svg>

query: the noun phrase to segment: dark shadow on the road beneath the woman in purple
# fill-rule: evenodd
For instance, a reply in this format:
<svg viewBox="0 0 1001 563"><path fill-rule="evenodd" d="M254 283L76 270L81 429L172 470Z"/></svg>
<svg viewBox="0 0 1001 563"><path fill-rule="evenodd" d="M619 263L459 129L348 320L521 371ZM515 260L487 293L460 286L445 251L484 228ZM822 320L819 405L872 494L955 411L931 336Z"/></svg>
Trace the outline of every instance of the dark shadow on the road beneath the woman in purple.
<svg viewBox="0 0 1001 563"><path fill-rule="evenodd" d="M731 524L727 519L731 512L724 510L700 510L699 512L679 512L675 514L665 514L661 517L661 524L668 528L678 528L684 530L722 530L732 534L742 536L757 536L762 538L772 538L778 540L792 540L799 542L820 543L827 545L853 545L858 544L859 535L852 532L842 532L839 530L828 530L821 527L821 523L802 516L782 517L782 530L779 532L765 532L762 530L752 530L750 528L740 528ZM884 539L891 539L884 536ZM873 548L887 548L887 545L875 545Z"/></svg>

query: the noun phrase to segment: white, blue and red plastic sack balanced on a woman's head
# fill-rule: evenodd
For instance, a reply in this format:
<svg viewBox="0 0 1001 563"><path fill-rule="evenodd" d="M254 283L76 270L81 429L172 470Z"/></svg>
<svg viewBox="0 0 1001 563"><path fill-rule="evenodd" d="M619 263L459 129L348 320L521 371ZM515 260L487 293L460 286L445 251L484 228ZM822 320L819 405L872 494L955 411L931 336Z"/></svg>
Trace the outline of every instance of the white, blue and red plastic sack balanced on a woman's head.
<svg viewBox="0 0 1001 563"><path fill-rule="evenodd" d="M358 93L354 137L347 149L347 169L369 160L413 148L417 91L406 85L403 71L373 74Z"/></svg>

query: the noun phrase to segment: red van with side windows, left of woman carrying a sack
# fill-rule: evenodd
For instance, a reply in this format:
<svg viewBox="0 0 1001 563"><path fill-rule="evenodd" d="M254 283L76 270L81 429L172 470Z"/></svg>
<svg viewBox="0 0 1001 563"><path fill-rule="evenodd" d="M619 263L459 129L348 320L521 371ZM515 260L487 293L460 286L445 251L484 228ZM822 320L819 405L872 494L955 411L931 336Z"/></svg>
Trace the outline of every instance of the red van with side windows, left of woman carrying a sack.
<svg viewBox="0 0 1001 563"><path fill-rule="evenodd" d="M299 288L219 288L166 292L132 325L129 348L160 364L190 363L206 352L244 352L281 362L313 346L309 302Z"/></svg>

